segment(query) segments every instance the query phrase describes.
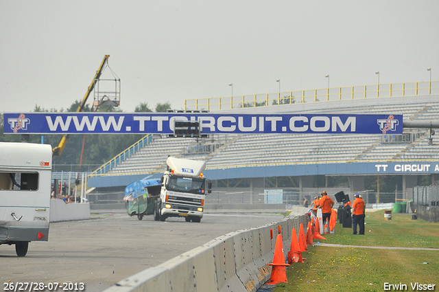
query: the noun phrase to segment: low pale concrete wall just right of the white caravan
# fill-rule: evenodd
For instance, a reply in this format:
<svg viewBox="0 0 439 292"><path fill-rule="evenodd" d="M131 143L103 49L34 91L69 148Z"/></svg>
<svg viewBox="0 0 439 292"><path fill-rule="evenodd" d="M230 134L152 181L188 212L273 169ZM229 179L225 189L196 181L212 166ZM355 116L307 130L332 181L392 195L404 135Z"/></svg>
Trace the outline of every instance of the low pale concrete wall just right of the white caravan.
<svg viewBox="0 0 439 292"><path fill-rule="evenodd" d="M64 203L61 199L50 200L50 222L90 219L89 203Z"/></svg>

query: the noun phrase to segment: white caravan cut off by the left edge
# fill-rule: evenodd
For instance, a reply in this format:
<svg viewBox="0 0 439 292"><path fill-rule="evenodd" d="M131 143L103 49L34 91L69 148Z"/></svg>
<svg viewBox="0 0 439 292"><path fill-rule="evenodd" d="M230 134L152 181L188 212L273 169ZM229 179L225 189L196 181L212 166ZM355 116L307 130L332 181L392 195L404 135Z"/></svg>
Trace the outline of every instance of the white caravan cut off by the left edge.
<svg viewBox="0 0 439 292"><path fill-rule="evenodd" d="M0 245L25 256L49 236L52 148L0 142Z"/></svg>

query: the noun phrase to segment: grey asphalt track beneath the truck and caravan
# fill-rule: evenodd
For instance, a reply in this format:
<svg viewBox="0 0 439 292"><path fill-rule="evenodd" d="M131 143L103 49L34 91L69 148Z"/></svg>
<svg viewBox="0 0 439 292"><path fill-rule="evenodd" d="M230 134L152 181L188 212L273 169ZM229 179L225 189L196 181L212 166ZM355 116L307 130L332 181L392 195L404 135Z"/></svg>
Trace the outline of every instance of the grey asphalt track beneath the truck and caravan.
<svg viewBox="0 0 439 292"><path fill-rule="evenodd" d="M49 241L29 243L18 258L14 245L0 245L0 280L82 282L97 292L229 232L280 221L280 214L204 214L201 223L184 218L99 214L91 220L51 223ZM47 290L46 290L47 291ZM62 289L58 289L62 291Z"/></svg>

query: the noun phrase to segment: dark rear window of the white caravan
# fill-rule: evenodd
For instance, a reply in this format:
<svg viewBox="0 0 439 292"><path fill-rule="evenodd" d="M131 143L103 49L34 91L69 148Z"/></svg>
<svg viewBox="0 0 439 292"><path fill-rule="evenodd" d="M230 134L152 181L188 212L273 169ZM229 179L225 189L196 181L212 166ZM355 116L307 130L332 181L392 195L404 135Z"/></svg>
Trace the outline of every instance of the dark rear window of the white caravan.
<svg viewBox="0 0 439 292"><path fill-rule="evenodd" d="M38 172L0 171L0 190L38 190Z"/></svg>

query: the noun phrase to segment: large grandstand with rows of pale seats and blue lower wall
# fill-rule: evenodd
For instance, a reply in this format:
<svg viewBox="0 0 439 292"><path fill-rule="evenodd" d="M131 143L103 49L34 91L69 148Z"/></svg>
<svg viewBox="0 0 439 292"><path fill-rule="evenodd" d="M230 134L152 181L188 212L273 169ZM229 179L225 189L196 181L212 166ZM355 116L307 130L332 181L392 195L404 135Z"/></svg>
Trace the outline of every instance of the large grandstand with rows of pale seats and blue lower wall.
<svg viewBox="0 0 439 292"><path fill-rule="evenodd" d="M404 121L439 120L439 96L392 96L244 107L212 113L350 113L403 115ZM434 136L433 136L434 137ZM126 186L147 174L162 172L168 155L206 160L205 175L220 179L250 179L259 186L262 177L300 177L300 191L311 185L306 177L351 177L349 192L364 191L361 179L381 175L376 164L388 164L391 175L403 175L406 188L416 186L415 173L396 172L394 164L436 164L439 145L429 128L404 128L402 135L266 134L213 135L206 139L157 136L110 170L105 166L91 175L89 186ZM431 142L432 145L431 145ZM397 168L395 168L397 169ZM436 179L434 166L429 172ZM118 177L118 179L115 179ZM307 182L308 181L308 182ZM358 183L359 181L359 183Z"/></svg>

